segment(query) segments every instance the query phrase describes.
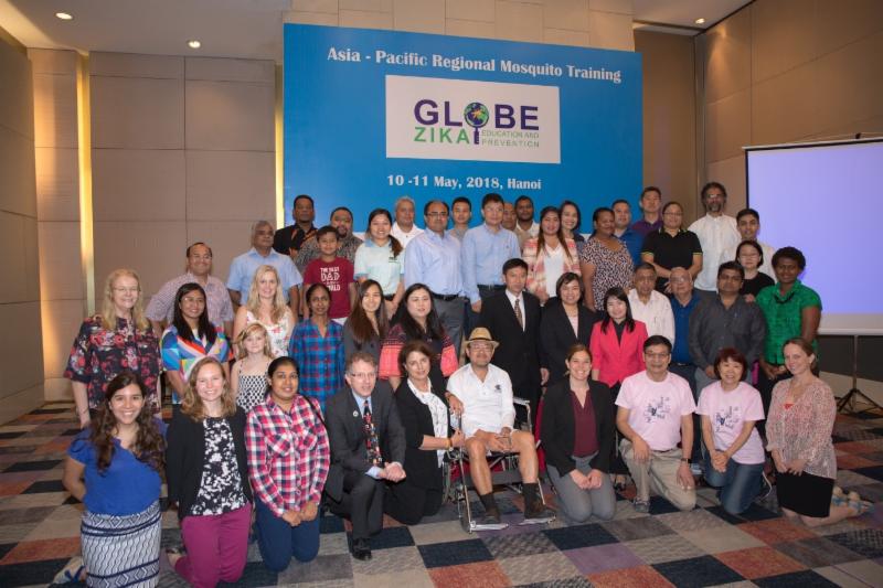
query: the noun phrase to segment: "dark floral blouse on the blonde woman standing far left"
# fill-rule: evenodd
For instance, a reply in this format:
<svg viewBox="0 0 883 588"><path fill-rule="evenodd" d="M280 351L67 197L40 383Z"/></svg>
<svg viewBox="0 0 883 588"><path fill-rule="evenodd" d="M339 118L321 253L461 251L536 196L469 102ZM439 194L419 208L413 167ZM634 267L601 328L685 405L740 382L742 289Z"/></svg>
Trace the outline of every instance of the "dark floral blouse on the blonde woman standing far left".
<svg viewBox="0 0 883 588"><path fill-rule="evenodd" d="M84 320L74 339L64 377L86 385L89 408L97 408L104 402L107 384L124 370L141 377L158 409L160 354L153 331L140 331L119 318L113 331L102 325L98 316Z"/></svg>

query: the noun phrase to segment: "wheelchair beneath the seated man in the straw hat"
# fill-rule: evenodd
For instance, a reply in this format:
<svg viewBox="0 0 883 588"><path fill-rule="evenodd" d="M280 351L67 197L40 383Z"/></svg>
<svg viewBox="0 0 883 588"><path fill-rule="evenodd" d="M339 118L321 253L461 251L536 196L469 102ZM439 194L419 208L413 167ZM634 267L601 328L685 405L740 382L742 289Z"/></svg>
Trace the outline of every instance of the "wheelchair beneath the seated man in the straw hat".
<svg viewBox="0 0 883 588"><path fill-rule="evenodd" d="M526 413L525 419L517 419L515 429L523 430L533 435L533 427L531 425L531 406L530 403L523 398L514 397L517 414L522 411ZM539 441L536 441L539 445ZM518 469L518 452L514 451L494 451L488 455L488 466L491 471L491 484L497 487L507 488L513 492L521 491L521 472ZM507 523L481 525L478 523L474 513L472 504L470 501L469 492L475 495L475 483L472 477L469 474L469 453L468 451L459 448L451 449L445 456L443 464L444 471L444 502L454 502L457 505L457 514L460 518L460 524L467 533L476 531L497 531L509 526ZM545 504L543 496L542 480L539 480L540 500Z"/></svg>

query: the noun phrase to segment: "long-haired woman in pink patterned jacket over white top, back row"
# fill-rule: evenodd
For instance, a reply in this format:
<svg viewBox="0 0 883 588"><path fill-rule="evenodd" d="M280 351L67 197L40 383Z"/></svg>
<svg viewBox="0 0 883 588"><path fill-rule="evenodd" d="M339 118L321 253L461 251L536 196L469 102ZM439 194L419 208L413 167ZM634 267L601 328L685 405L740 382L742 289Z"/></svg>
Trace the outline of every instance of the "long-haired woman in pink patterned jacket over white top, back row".
<svg viewBox="0 0 883 588"><path fill-rule="evenodd" d="M564 235L555 206L540 212L540 234L528 239L521 255L528 264L528 291L545 304L555 297L554 285L567 271L581 275L576 243Z"/></svg>

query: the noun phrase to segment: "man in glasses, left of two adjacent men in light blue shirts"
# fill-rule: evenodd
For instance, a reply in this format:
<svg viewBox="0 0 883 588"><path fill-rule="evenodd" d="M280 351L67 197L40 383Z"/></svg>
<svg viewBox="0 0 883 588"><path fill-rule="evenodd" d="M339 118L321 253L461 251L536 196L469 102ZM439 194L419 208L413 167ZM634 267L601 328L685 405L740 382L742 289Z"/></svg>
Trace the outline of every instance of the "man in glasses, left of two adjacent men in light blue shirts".
<svg viewBox="0 0 883 588"><path fill-rule="evenodd" d="M405 249L405 288L414 284L429 288L435 311L459 355L466 299L462 296L460 242L445 231L448 214L448 204L440 200L429 201L424 206L426 231Z"/></svg>

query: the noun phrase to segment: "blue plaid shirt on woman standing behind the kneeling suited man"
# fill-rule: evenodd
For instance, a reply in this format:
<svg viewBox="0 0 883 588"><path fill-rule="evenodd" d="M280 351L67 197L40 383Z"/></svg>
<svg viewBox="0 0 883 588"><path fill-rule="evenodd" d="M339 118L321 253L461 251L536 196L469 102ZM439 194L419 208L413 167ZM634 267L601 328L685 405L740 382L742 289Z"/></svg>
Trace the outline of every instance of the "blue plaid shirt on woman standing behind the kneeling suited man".
<svg viewBox="0 0 883 588"><path fill-rule="evenodd" d="M343 327L329 321L325 336L312 320L301 321L291 333L289 354L300 371L300 393L325 400L343 386Z"/></svg>

